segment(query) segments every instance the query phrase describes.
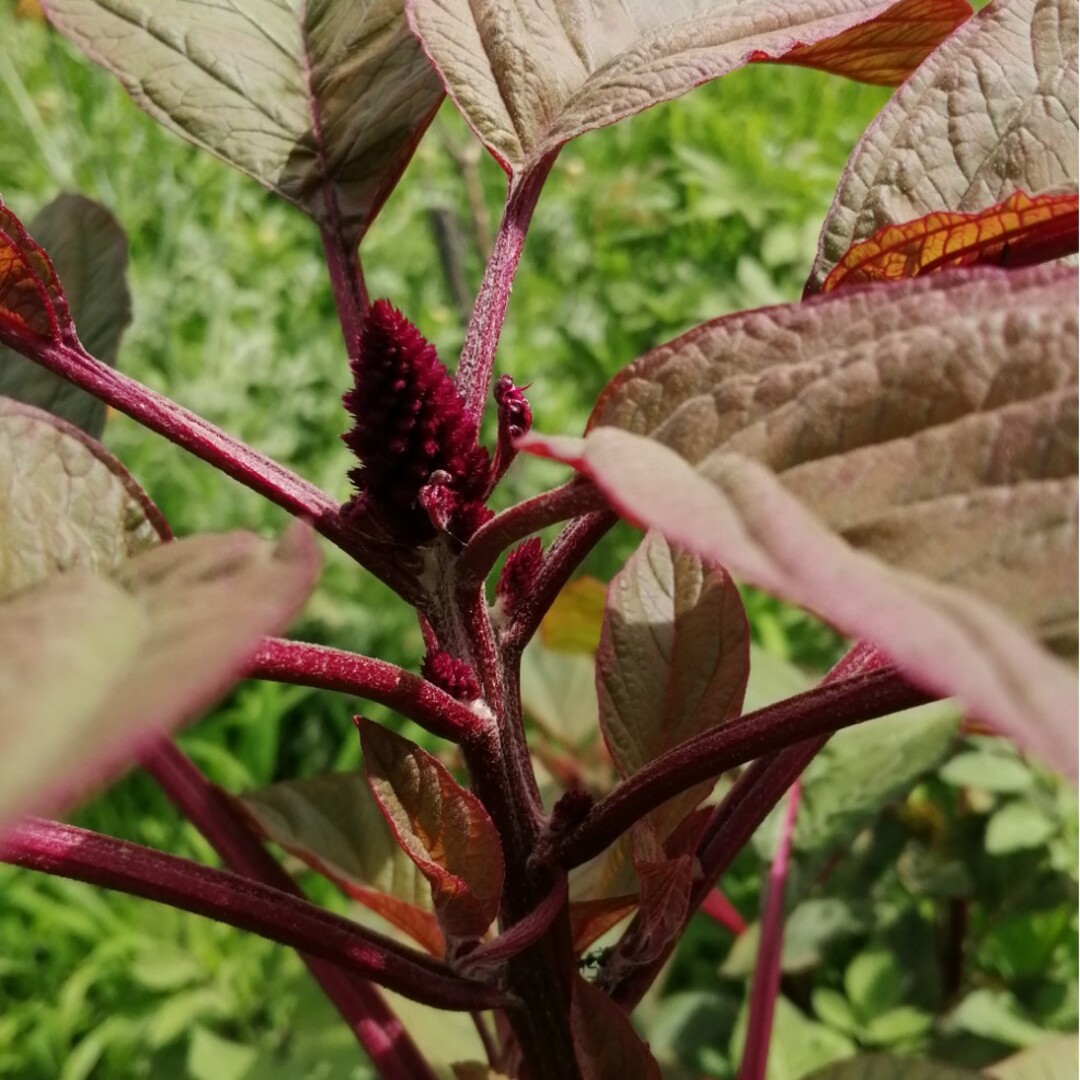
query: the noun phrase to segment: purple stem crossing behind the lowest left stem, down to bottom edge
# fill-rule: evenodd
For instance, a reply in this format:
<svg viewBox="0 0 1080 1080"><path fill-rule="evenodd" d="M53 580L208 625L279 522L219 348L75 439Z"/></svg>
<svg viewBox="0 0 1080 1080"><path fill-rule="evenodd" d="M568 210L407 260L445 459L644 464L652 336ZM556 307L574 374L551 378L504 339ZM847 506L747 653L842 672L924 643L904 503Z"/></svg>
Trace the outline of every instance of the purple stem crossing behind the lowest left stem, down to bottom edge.
<svg viewBox="0 0 1080 1080"><path fill-rule="evenodd" d="M233 800L212 784L175 743L161 739L144 755L143 767L231 869L282 892L301 895ZM308 953L300 953L300 959L352 1029L382 1080L435 1080L416 1043L370 983Z"/></svg>

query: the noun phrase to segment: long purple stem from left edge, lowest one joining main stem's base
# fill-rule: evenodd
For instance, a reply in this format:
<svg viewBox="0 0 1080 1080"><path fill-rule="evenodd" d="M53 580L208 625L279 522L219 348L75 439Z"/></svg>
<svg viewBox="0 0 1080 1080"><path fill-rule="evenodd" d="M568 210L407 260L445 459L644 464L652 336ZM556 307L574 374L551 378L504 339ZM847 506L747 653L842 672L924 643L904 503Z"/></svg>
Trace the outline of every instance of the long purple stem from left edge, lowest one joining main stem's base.
<svg viewBox="0 0 1080 1080"><path fill-rule="evenodd" d="M140 843L24 818L0 838L0 861L168 904L329 960L423 1004L503 1005L501 991L280 889Z"/></svg>

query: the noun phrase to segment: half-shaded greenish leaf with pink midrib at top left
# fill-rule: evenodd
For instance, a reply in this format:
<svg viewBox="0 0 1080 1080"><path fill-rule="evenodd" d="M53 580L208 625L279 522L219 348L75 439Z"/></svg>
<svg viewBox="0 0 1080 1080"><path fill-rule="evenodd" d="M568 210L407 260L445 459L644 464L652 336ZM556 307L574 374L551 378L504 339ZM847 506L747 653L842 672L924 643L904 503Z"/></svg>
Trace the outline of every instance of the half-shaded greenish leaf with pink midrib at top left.
<svg viewBox="0 0 1080 1080"><path fill-rule="evenodd" d="M402 0L49 0L170 131L359 240L442 99Z"/></svg>

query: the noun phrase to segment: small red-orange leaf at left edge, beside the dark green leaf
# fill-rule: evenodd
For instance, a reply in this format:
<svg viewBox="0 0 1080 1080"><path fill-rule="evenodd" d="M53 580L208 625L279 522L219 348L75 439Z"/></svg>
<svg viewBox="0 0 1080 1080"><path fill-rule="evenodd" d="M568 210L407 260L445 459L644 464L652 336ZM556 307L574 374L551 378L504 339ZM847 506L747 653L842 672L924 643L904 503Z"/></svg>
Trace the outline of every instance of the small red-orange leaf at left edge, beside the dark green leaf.
<svg viewBox="0 0 1080 1080"><path fill-rule="evenodd" d="M0 202L0 335L59 341L71 314L49 256Z"/></svg>

